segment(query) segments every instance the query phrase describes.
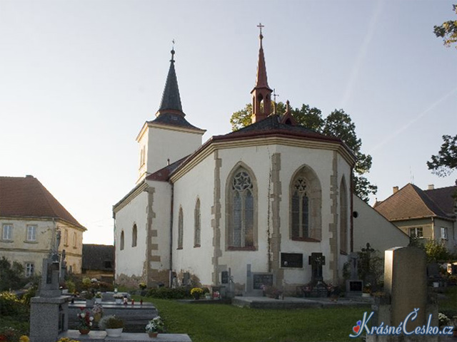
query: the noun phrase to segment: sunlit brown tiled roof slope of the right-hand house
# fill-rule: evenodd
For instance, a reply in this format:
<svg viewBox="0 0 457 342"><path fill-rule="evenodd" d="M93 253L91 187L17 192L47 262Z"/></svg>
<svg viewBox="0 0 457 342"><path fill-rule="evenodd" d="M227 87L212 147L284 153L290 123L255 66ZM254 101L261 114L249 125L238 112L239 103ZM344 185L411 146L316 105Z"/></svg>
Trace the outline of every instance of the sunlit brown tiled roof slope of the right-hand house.
<svg viewBox="0 0 457 342"><path fill-rule="evenodd" d="M389 221L421 217L451 217L413 184L407 184L374 208Z"/></svg>

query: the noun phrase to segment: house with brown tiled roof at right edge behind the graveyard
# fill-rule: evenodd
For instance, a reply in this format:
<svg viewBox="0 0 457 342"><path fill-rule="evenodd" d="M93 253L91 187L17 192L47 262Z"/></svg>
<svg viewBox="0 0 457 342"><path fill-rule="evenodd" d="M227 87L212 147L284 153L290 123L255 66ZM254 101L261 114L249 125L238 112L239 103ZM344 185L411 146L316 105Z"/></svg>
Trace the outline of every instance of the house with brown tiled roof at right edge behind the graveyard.
<svg viewBox="0 0 457 342"><path fill-rule="evenodd" d="M435 239L457 252L456 195L457 186L421 190L409 183L400 190L393 187L393 194L374 209L410 237Z"/></svg>

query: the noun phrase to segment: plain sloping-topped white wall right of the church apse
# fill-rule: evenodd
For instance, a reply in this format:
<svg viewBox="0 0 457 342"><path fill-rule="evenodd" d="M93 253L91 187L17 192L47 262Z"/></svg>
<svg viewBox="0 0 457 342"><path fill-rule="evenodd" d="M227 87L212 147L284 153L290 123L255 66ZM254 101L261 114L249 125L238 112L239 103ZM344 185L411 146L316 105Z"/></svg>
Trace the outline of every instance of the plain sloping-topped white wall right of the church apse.
<svg viewBox="0 0 457 342"><path fill-rule="evenodd" d="M354 252L359 252L369 242L383 256L386 249L409 244L409 237L398 227L376 212L358 196L353 195Z"/></svg>

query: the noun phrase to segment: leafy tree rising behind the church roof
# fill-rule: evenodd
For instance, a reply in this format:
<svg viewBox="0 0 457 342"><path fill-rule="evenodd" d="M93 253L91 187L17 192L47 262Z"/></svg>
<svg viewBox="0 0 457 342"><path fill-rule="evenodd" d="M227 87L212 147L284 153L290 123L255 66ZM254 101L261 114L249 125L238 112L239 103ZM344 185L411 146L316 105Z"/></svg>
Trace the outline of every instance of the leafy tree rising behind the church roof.
<svg viewBox="0 0 457 342"><path fill-rule="evenodd" d="M286 106L279 102L276 104L276 113L284 113ZM371 155L364 155L361 152L362 141L357 138L356 125L352 122L351 117L344 110L333 110L325 119L322 118L321 110L311 108L309 105L301 105L301 108L292 108L291 114L298 124L306 128L315 130L323 135L331 135L343 140L343 142L356 155L356 165L353 173L353 190L365 202L368 202L370 194L376 194L378 187L372 185L364 174L371 169ZM242 110L231 115L230 123L232 130L251 125L252 105L247 104Z"/></svg>

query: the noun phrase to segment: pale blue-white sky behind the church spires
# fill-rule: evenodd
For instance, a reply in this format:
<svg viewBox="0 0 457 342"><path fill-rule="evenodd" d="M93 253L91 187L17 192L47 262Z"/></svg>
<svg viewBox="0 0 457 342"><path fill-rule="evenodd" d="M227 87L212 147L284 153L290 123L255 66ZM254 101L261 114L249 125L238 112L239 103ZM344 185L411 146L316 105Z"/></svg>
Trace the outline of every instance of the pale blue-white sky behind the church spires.
<svg viewBox="0 0 457 342"><path fill-rule="evenodd" d="M457 134L457 49L433 34L456 20L453 2L0 0L0 175L34 175L84 243L112 244L172 40L186 119L206 141L251 102L261 22L278 100L351 115L378 200L408 182L451 186L457 172L426 162Z"/></svg>

